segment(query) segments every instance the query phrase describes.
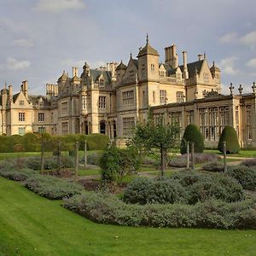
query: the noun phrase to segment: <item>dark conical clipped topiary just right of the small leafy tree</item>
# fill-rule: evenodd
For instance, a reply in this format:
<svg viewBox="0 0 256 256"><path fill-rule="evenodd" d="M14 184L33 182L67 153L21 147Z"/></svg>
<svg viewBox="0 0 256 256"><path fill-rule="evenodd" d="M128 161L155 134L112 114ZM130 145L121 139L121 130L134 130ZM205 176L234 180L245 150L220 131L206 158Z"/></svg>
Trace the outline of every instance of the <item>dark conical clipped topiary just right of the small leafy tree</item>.
<svg viewBox="0 0 256 256"><path fill-rule="evenodd" d="M187 142L194 143L195 153L202 153L204 151L204 137L201 131L195 124L190 124L186 127L183 138L180 144L180 153L187 153ZM191 151L191 146L189 147Z"/></svg>

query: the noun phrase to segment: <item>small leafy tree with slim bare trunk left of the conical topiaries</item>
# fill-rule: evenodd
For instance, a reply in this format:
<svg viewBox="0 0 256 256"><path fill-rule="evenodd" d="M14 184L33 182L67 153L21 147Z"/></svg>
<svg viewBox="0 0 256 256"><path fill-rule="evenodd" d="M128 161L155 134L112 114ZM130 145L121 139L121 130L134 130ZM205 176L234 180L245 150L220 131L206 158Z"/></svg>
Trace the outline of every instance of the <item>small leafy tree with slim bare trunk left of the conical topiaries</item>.
<svg viewBox="0 0 256 256"><path fill-rule="evenodd" d="M163 119L154 121L149 113L146 124L136 126L131 144L137 148L145 148L147 151L151 148L157 149L160 152L160 174L163 176L166 169L167 150L177 146L179 131L177 124L165 125Z"/></svg>

